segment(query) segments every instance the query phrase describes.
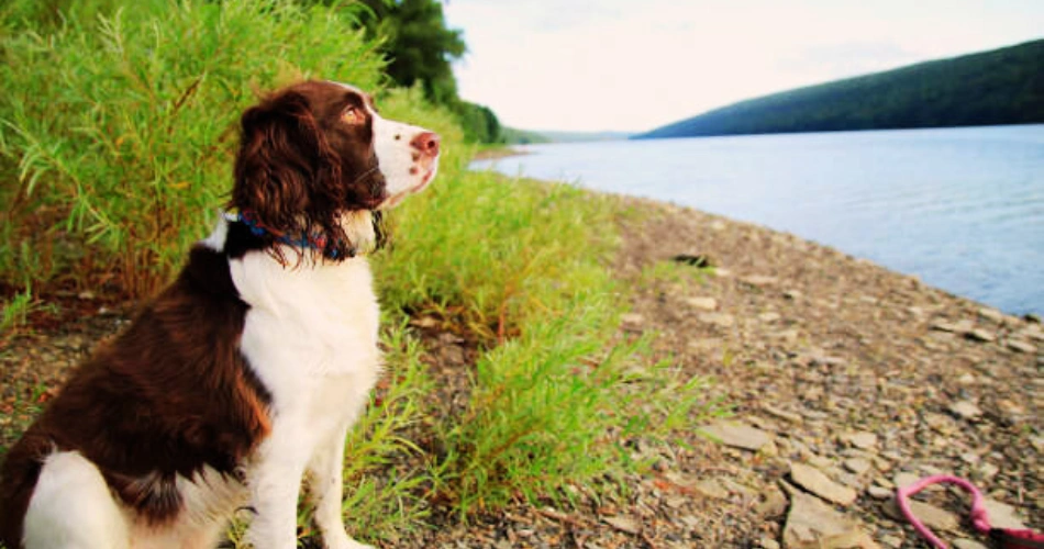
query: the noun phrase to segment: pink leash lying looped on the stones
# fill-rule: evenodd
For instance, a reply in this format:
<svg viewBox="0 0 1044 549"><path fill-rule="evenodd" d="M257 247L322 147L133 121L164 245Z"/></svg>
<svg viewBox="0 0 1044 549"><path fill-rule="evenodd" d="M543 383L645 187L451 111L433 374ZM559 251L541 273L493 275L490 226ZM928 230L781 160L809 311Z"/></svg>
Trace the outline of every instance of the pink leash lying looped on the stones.
<svg viewBox="0 0 1044 549"><path fill-rule="evenodd" d="M1015 530L990 527L989 517L986 516L986 506L982 504L982 493L979 492L979 489L964 479L949 474L925 477L909 486L900 486L896 491L896 503L899 504L899 508L907 517L907 520L910 520L910 524L918 530L918 534L926 539L935 549L946 549L946 544L943 544L941 539L935 537L932 530L913 515L908 500L925 488L940 483L956 484L971 493L971 525L975 526L976 530L988 535L989 538L997 544L997 547L1001 549L1044 549L1044 534L1029 529Z"/></svg>

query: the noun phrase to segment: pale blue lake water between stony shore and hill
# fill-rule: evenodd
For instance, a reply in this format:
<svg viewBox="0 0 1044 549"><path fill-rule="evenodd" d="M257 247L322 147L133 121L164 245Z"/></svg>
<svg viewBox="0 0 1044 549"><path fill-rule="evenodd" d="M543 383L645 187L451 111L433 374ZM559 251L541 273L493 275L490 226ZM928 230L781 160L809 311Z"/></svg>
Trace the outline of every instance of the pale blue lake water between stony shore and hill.
<svg viewBox="0 0 1044 549"><path fill-rule="evenodd" d="M693 206L1044 312L1044 125L520 148L473 168Z"/></svg>

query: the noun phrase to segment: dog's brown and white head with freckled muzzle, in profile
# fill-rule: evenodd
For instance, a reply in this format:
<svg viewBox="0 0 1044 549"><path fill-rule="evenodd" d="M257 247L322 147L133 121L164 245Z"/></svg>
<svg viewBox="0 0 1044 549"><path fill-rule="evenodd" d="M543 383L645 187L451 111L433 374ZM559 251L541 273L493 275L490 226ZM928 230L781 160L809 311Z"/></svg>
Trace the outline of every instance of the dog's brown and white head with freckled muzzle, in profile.
<svg viewBox="0 0 1044 549"><path fill-rule="evenodd" d="M231 205L264 227L268 244L314 238L323 257L341 260L365 245L352 226L359 213L376 223L379 211L432 181L438 142L382 119L351 86L289 86L243 114Z"/></svg>

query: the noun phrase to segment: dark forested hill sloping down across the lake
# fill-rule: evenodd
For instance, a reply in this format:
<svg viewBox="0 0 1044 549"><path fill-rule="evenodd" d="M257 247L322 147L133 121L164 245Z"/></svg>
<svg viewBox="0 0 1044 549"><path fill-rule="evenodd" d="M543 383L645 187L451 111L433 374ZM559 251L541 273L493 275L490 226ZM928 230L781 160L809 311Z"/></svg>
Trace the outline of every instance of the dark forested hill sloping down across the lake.
<svg viewBox="0 0 1044 549"><path fill-rule="evenodd" d="M799 88L633 138L1044 123L1044 40Z"/></svg>

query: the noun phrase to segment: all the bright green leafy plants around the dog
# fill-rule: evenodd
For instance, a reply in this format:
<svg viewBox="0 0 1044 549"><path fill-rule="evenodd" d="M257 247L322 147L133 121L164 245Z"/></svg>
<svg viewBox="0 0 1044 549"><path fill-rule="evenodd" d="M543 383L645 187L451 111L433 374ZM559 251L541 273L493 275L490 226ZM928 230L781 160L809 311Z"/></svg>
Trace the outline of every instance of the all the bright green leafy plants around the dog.
<svg viewBox="0 0 1044 549"><path fill-rule="evenodd" d="M391 213L391 245L374 258L387 374L346 445L344 514L357 537L393 545L436 511L467 520L567 497L565 485L606 494L606 479L643 467L629 441L669 438L702 412L703 380L618 330L627 300L607 267L615 200L466 171L474 148L452 114L419 90L381 90L382 60L342 11L115 4L45 24L32 2L0 10L0 280L26 289L4 305L4 326L41 306L30 284L145 295L169 280L227 193L237 113L254 90L319 76L377 89L385 115L443 135L435 183ZM459 413L431 396L445 381L421 360L408 327L418 316L477 349ZM4 426L3 439L22 427ZM300 528L312 535L307 513Z"/></svg>

